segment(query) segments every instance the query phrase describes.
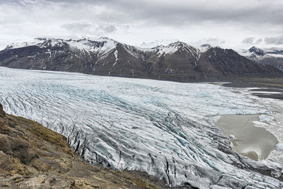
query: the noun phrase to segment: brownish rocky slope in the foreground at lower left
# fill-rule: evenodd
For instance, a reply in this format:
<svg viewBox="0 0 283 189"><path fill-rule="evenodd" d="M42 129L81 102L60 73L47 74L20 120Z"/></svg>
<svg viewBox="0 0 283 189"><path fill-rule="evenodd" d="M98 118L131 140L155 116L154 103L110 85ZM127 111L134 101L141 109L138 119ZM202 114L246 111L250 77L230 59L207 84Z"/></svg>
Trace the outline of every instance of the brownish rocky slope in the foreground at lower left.
<svg viewBox="0 0 283 189"><path fill-rule="evenodd" d="M0 188L168 188L153 176L87 164L61 134L0 105Z"/></svg>

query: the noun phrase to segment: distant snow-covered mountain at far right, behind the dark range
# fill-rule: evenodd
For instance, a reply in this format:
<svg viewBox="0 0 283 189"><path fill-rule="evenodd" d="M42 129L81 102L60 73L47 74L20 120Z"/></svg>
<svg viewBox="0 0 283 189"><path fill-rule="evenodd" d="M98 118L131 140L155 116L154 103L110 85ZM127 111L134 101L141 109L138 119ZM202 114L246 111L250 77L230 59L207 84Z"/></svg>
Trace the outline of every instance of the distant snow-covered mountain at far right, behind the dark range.
<svg viewBox="0 0 283 189"><path fill-rule="evenodd" d="M272 47L260 49L258 47L250 47L248 50L239 50L240 55L248 57L255 62L261 64L272 65L283 71L283 48Z"/></svg>

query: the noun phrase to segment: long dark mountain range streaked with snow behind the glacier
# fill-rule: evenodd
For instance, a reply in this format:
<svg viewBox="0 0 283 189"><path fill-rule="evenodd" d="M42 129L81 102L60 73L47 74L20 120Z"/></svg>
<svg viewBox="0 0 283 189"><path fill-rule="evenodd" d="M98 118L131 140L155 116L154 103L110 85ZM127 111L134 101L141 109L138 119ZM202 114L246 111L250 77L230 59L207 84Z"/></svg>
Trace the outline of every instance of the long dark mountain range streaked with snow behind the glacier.
<svg viewBox="0 0 283 189"><path fill-rule="evenodd" d="M207 47L207 46L206 46ZM0 51L0 66L19 69L74 71L169 81L204 81L241 76L282 76L233 50L209 47L200 52L184 42L143 49L109 38L98 40L37 39ZM255 47L253 52L261 53Z"/></svg>

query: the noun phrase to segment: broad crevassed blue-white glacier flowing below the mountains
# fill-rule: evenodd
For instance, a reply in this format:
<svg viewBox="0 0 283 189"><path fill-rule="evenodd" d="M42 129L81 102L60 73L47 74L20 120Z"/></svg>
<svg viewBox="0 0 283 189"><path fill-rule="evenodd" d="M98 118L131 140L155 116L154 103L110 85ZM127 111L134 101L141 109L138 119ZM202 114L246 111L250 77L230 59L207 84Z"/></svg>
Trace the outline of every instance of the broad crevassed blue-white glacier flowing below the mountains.
<svg viewBox="0 0 283 189"><path fill-rule="evenodd" d="M171 186L283 186L282 164L236 154L215 126L224 114L270 113L245 89L0 67L0 103L67 137L91 164Z"/></svg>

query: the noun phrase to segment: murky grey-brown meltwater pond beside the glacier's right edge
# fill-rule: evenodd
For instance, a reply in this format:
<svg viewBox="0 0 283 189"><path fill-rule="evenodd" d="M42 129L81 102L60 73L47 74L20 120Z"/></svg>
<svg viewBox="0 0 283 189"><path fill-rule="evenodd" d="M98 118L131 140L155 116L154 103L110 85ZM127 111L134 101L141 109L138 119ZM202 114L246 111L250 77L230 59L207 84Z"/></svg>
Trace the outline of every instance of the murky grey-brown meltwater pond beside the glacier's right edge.
<svg viewBox="0 0 283 189"><path fill-rule="evenodd" d="M256 127L258 115L222 115L216 123L224 134L231 134L232 149L255 161L266 159L278 144L277 138L262 127Z"/></svg>

